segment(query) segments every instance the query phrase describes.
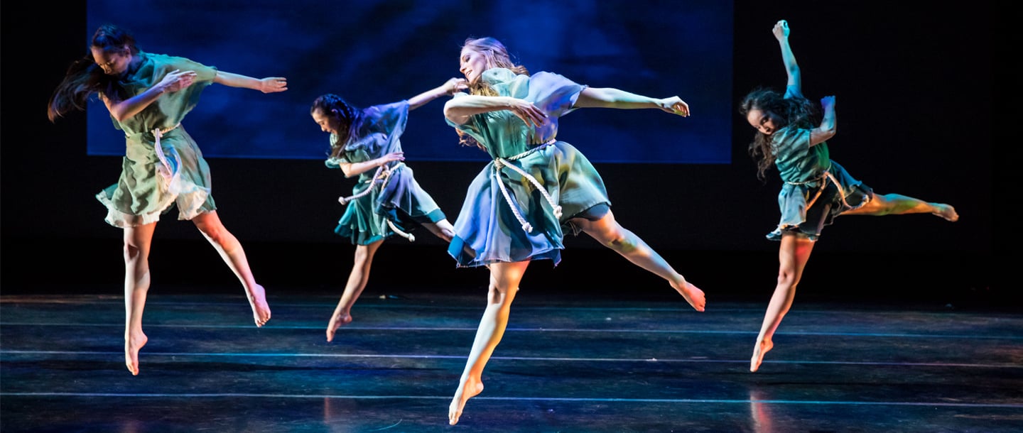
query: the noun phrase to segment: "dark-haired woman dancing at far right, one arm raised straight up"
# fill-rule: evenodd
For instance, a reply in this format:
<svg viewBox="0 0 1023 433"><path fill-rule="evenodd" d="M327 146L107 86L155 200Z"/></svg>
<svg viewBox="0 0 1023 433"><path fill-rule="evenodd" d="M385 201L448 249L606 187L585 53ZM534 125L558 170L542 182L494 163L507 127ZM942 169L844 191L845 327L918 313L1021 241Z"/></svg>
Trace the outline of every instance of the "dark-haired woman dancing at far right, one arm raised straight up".
<svg viewBox="0 0 1023 433"><path fill-rule="evenodd" d="M814 128L811 117L816 115L816 107L803 96L799 64L789 46L788 22L777 21L772 32L789 76L785 95L756 89L740 106L740 113L757 130L749 147L758 162L757 176L763 180L773 165L785 182L777 196L782 219L767 235L781 242L777 285L753 348L751 372L760 368L764 353L773 347L771 337L792 306L810 251L821 229L836 216L933 213L951 222L959 220L955 208L948 204L876 194L831 159L826 140L836 133L835 96L820 99L824 114Z"/></svg>

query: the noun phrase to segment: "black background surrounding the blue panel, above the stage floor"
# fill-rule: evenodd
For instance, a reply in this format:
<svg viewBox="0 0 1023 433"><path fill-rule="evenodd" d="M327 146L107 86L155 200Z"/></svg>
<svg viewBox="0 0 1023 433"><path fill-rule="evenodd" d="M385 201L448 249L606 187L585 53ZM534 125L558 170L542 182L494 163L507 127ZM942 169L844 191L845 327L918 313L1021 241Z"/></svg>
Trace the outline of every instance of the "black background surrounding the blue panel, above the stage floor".
<svg viewBox="0 0 1023 433"><path fill-rule="evenodd" d="M815 247L801 299L997 304L1015 290L1007 287L1019 266L1008 238L1015 229L1009 223L1017 220L1007 182L1013 164L1009 150L992 149L995 59L1005 55L995 25L1005 12L988 2L955 8L919 4L735 4L732 104L758 85L784 86L770 30L777 19L788 19L804 93L837 96L839 133L830 141L832 157L879 193L951 203L961 215L954 224L928 214L840 218ZM0 290L119 295L122 231L103 223L105 211L94 194L117 180L121 158L86 154L84 113L55 125L45 115L53 87L87 47L83 36L92 29L86 25L85 4L58 8L32 2L19 3L16 12L11 8L4 4L2 14ZM679 76L699 67L679 64ZM764 239L779 215L776 173L766 183L758 181L746 154L753 130L738 113L731 129L730 164L597 164L619 222L701 286L709 307L731 296L766 301L777 268L777 243ZM231 132L223 134L229 138ZM211 139L196 137L201 146ZM325 170L320 160L211 157L209 162L221 220L242 242L268 294L314 290L340 295L354 247L332 229L343 211L337 198L351 190L351 181ZM409 163L453 222L482 163ZM994 209L995 196L1009 200ZM165 215L157 229L152 289L240 294L233 275L194 226L176 216L176 210ZM387 241L367 290L403 286L481 293L485 270L455 269L440 240L425 230L415 233L413 244ZM524 289L623 296L670 292L657 277L588 237L570 237L566 243L562 264L533 263Z"/></svg>

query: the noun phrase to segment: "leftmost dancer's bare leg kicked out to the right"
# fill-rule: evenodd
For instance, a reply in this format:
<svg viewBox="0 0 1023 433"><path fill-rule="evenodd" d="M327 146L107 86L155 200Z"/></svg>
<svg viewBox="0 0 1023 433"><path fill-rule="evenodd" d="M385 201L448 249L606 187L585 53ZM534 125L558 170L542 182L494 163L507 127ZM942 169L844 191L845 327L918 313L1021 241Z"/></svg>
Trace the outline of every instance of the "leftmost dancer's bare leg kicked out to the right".
<svg viewBox="0 0 1023 433"><path fill-rule="evenodd" d="M263 286L256 284L241 243L224 228L216 210L199 213L192 219L192 223L203 233L206 240L210 241L210 244L217 249L220 257L241 282L249 298L249 305L253 309L253 320L256 322L256 326L266 325L266 322L270 320L270 306L266 303L266 291Z"/></svg>

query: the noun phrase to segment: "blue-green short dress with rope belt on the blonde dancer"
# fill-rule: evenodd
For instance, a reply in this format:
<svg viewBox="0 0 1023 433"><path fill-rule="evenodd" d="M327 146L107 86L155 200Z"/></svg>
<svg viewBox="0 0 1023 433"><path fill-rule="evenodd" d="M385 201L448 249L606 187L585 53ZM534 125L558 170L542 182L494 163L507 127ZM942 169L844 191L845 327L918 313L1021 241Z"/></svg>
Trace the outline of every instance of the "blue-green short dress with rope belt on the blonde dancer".
<svg viewBox="0 0 1023 433"><path fill-rule="evenodd" d="M606 213L611 206L589 159L554 138L559 117L574 109L586 86L552 73L516 75L502 67L484 71L481 79L500 96L530 101L548 117L539 127L527 127L509 110L475 114L463 125L447 121L493 159L465 193L448 253L459 268L532 259L558 266L564 230L578 233L570 220L592 219L594 209Z"/></svg>

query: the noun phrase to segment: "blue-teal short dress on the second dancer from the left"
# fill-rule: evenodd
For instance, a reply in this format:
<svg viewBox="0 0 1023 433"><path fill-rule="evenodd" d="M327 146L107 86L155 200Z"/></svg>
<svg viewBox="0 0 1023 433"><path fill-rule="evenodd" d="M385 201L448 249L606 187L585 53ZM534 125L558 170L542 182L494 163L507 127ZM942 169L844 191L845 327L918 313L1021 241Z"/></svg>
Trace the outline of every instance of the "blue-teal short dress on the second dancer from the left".
<svg viewBox="0 0 1023 433"><path fill-rule="evenodd" d="M327 167L340 169L341 163L364 162L402 151L400 137L408 121L407 100L364 108L359 118L352 135L355 138L345 143L339 157L326 160ZM337 135L330 135L331 146L339 140ZM368 245L394 235L412 241L415 227L446 219L415 181L412 169L402 161L360 174L352 195L344 201L347 207L333 232L355 245Z"/></svg>

